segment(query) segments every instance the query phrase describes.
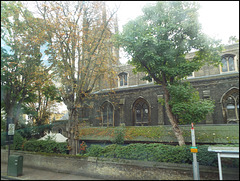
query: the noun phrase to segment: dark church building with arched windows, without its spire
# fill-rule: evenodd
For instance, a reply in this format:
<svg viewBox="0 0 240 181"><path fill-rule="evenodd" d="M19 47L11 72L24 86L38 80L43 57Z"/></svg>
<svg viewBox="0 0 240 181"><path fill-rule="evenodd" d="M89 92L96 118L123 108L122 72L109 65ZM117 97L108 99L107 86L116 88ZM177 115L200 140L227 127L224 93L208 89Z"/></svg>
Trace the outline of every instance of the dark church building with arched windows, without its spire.
<svg viewBox="0 0 240 181"><path fill-rule="evenodd" d="M186 57L191 59L194 53ZM200 124L239 123L239 44L225 46L222 65L203 66L192 72L189 81L201 99L215 102L215 110ZM84 103L79 120L88 126L153 126L170 124L161 85L143 81L144 73L133 74L131 65L116 67L116 87L92 92ZM81 112L83 114L81 114Z"/></svg>

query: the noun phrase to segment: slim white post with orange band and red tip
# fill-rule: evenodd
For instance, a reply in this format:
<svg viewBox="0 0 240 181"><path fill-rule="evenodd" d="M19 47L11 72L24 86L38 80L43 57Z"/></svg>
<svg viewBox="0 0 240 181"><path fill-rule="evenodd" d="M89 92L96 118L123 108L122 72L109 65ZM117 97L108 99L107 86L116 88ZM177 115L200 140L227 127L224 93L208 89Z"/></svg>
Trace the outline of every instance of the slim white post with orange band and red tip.
<svg viewBox="0 0 240 181"><path fill-rule="evenodd" d="M193 128L193 123L192 123L192 128L191 128L191 137L192 137L191 152L193 153L193 179L194 180L200 180L199 163L197 162L198 149L196 147L196 142L195 142L195 131L194 131L194 128Z"/></svg>

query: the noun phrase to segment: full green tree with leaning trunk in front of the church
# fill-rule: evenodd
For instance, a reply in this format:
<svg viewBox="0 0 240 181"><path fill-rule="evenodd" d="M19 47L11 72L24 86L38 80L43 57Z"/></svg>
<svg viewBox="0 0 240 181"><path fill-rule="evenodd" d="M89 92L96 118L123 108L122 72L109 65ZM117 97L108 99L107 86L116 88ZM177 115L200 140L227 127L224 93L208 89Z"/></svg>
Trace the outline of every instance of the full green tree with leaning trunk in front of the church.
<svg viewBox="0 0 240 181"><path fill-rule="evenodd" d="M181 100L185 104L176 105L180 100L177 97L180 92L176 90L182 89L182 98L186 98L187 94L194 91L182 85L181 80L206 63L218 65L221 60L219 42L201 31L198 9L199 5L195 2L157 2L154 6L143 8L144 15L129 21L119 36L120 45L132 56L129 63L135 66L134 71L145 72L148 75L144 77L145 80L151 81L153 78L157 84L162 85L166 113L179 145L185 144L178 126L179 119L190 121L184 117L186 108L189 103L194 105L192 100L199 98L194 94L187 101ZM189 60L186 54L192 50L197 51L194 58ZM187 115L195 119L196 116L191 111L198 112L196 115L203 115L206 107L212 109L210 102L199 102L198 105L202 105L202 109L188 110Z"/></svg>

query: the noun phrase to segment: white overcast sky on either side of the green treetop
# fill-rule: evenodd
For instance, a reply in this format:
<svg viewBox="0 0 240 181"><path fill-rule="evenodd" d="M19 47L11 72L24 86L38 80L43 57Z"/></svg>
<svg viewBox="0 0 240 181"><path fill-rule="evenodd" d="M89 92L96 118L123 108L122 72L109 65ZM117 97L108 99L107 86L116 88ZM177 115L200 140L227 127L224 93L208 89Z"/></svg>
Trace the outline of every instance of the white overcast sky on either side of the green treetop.
<svg viewBox="0 0 240 181"><path fill-rule="evenodd" d="M154 4L156 1L107 1L110 7L120 5L118 10L119 30L129 20L142 15L142 8L146 4ZM198 1L199 22L204 33L215 39L221 39L223 44L228 44L230 36L239 38L239 1ZM127 58L121 51L122 63Z"/></svg>

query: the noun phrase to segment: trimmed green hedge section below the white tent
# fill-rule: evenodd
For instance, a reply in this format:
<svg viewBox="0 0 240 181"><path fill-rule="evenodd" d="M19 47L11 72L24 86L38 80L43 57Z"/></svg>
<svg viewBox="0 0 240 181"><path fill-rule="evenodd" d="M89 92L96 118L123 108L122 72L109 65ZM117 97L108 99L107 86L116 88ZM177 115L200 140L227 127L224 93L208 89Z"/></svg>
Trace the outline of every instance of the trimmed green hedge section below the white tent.
<svg viewBox="0 0 240 181"><path fill-rule="evenodd" d="M25 151L45 153L66 153L67 143L57 143L52 140L33 140L24 144Z"/></svg>

